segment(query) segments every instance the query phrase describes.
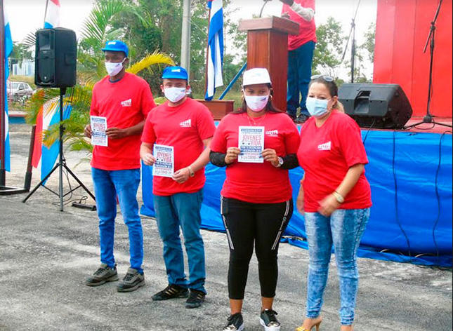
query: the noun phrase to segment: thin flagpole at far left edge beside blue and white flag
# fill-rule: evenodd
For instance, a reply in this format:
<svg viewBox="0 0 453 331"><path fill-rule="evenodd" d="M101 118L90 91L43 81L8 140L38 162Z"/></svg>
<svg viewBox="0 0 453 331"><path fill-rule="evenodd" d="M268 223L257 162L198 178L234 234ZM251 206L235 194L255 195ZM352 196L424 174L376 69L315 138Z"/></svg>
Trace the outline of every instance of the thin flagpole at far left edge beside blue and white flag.
<svg viewBox="0 0 453 331"><path fill-rule="evenodd" d="M6 185L6 166L5 166L5 16L4 1L0 0L0 187Z"/></svg>

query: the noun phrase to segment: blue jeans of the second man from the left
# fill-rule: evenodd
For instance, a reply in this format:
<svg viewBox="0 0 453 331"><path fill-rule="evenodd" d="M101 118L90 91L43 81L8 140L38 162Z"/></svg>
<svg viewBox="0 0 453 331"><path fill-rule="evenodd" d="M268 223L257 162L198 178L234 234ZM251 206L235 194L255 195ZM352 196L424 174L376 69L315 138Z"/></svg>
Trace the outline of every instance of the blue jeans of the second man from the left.
<svg viewBox="0 0 453 331"><path fill-rule="evenodd" d="M164 242L164 260L169 284L206 293L204 243L200 233L202 201L203 191L154 196L157 226ZM189 260L190 281L187 281L184 271L180 229L183 230L185 251Z"/></svg>

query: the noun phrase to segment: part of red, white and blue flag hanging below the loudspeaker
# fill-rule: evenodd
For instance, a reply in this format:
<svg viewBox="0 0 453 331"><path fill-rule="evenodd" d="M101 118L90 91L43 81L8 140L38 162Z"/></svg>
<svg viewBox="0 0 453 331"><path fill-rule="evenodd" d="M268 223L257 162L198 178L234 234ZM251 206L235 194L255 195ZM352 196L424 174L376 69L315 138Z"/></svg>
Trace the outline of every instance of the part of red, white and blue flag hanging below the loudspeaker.
<svg viewBox="0 0 453 331"><path fill-rule="evenodd" d="M69 119L72 106L68 102L63 103L63 120ZM53 124L60 122L60 97L55 97L44 104L39 111L36 123L36 133L33 147L32 165L34 168L41 169L41 180L48 175L55 165L55 161L60 153L60 144L55 142L51 147L46 147L43 143L44 132Z"/></svg>

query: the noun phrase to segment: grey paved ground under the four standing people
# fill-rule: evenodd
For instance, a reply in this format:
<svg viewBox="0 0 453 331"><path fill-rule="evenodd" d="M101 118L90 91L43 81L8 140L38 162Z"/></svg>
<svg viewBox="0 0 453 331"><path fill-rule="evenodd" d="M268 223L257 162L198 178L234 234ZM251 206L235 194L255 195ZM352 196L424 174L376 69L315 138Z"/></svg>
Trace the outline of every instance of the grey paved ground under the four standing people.
<svg viewBox="0 0 453 331"><path fill-rule="evenodd" d="M13 174L8 184L22 184L27 163L26 126L11 128ZM91 188L83 155L67 154L75 173ZM34 175L34 184L37 175ZM51 179L49 184L58 184ZM78 193L79 194L79 193ZM80 193L81 194L81 193ZM162 244L155 221L143 218L147 286L120 294L114 284L88 288L84 278L98 266L96 213L67 206L39 189L26 204L24 196L0 196L0 330L221 330L228 316L226 270L228 245L223 234L204 231L209 297L202 309L188 311L183 300L155 303L152 293L166 286ZM79 198L74 196L72 198ZM127 229L117 220L115 243L119 272L128 267ZM358 331L452 330L452 272L408 264L360 259L362 283L357 307ZM282 330L301 323L306 295L308 254L282 245L280 283L275 309ZM339 330L339 286L332 266L325 297L322 330ZM244 318L247 331L258 325L259 288L252 262Z"/></svg>

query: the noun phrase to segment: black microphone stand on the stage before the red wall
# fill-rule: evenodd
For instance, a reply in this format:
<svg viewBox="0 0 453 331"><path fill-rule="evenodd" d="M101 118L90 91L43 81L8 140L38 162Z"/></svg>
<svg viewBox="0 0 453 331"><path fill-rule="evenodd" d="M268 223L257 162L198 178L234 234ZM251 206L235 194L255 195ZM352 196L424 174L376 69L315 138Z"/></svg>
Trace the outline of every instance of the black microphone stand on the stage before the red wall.
<svg viewBox="0 0 453 331"><path fill-rule="evenodd" d="M431 22L431 28L429 31L428 35L428 40L426 40L426 45L423 50L423 53L426 53L426 49L428 48L428 45L430 46L430 63L429 63L429 84L428 84L428 106L426 107L426 115L423 119L423 121L419 123L412 124L411 126L406 126L405 130L414 128L416 126L419 126L420 124L434 124L435 126L446 126L447 128L452 128L452 126L449 126L448 124L445 123L439 123L434 121L433 115L431 114L431 100L433 97L433 64L434 64L434 49L435 49L435 23L438 20L439 13L440 13L440 8L442 7L442 2L443 0L440 0L438 10L435 13L434 20ZM431 42L430 42L431 41Z"/></svg>

